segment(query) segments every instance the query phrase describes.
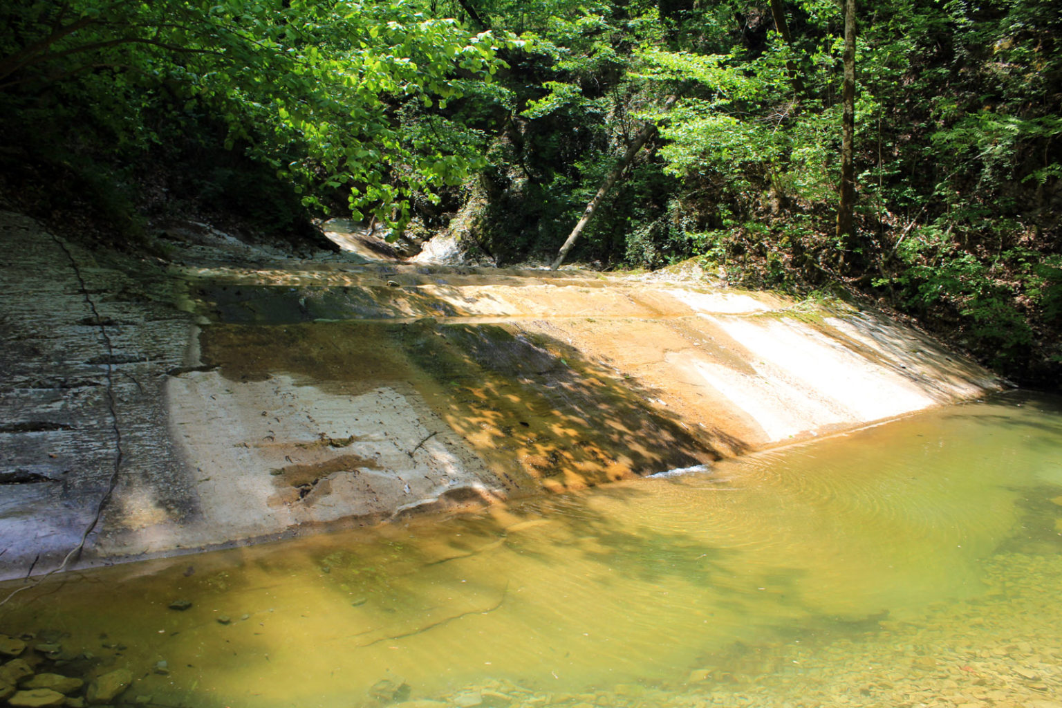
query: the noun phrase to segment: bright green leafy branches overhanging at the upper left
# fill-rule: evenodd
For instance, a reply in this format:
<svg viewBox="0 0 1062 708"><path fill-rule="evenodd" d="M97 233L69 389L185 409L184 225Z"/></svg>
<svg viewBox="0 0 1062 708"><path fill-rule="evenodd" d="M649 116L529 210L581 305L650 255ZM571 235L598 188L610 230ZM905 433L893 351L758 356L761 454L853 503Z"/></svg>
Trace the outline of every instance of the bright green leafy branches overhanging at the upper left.
<svg viewBox="0 0 1062 708"><path fill-rule="evenodd" d="M399 223L414 194L460 184L482 165L482 140L447 129L441 111L468 83L490 82L504 67L499 49L516 46L407 0L75 0L20 2L6 14L8 109L29 117L37 97L57 89L89 106L119 144L141 149L172 140L167 131L185 116L209 114L225 125L226 149L272 166L305 204L344 187L355 215ZM425 129L396 120L410 104L429 109ZM159 113L165 122L151 120Z"/></svg>

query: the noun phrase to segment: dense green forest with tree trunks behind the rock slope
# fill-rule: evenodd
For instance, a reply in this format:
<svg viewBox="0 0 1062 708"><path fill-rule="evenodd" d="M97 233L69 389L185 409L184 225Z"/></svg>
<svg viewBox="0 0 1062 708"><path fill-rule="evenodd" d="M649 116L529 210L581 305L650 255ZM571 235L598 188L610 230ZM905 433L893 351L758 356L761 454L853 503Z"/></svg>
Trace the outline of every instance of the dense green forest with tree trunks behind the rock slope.
<svg viewBox="0 0 1062 708"><path fill-rule="evenodd" d="M194 215L299 246L348 215L449 230L498 266L562 244L600 270L696 258L1062 381L1055 0L10 0L0 18L0 206L64 232L159 254L161 225Z"/></svg>

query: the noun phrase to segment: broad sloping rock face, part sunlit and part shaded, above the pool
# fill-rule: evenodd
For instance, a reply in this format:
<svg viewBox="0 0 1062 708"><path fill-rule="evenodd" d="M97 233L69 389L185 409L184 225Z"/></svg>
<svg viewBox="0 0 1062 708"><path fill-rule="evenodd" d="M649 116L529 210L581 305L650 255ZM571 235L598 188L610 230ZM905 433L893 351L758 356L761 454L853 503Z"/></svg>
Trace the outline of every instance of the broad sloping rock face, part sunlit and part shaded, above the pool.
<svg viewBox="0 0 1062 708"><path fill-rule="evenodd" d="M89 529L76 563L276 538L709 465L999 385L881 315L700 276L223 243L162 267L0 229L5 577Z"/></svg>

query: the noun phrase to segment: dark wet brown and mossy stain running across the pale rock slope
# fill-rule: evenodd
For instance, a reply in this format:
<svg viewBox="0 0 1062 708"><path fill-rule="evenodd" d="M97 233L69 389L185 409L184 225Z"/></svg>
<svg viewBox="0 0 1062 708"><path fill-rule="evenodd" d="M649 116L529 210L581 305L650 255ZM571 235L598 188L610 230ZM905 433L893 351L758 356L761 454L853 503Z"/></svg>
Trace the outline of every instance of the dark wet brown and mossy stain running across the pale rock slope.
<svg viewBox="0 0 1062 708"><path fill-rule="evenodd" d="M367 296L323 291L314 305L296 297L298 291L275 288L212 293L225 322L277 324L204 329L207 365L234 381L284 373L343 394L380 385L413 390L510 493L581 488L721 456L710 431L687 429L653 405L654 392L635 379L518 324L303 322L328 308L349 313ZM328 297L335 300L325 307ZM421 307L449 308L418 297ZM730 442L733 449L746 447Z"/></svg>

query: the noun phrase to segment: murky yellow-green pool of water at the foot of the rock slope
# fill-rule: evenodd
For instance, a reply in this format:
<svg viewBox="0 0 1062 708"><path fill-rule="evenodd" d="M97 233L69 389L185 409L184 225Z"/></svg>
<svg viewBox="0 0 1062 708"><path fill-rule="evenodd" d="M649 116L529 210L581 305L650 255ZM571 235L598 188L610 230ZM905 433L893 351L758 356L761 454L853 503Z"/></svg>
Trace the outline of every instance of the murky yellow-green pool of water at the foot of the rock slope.
<svg viewBox="0 0 1062 708"><path fill-rule="evenodd" d="M68 672L129 667L123 698L151 705L1057 708L1060 589L1062 401L1022 394L706 471L68 575L16 595L0 632L62 635Z"/></svg>

